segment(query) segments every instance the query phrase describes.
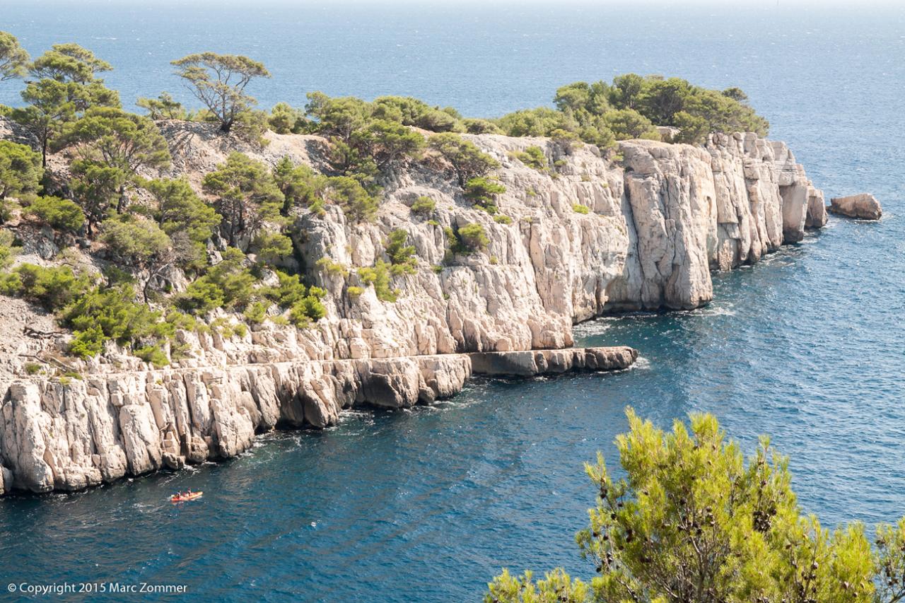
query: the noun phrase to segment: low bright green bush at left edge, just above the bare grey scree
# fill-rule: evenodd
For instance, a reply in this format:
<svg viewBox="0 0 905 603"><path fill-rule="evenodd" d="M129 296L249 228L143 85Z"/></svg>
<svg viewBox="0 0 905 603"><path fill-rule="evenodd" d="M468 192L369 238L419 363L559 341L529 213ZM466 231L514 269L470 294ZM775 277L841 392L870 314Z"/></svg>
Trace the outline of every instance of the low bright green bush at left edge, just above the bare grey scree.
<svg viewBox="0 0 905 603"><path fill-rule="evenodd" d="M47 311L62 309L90 286L87 275L77 275L69 266L45 268L33 263L19 264L0 279L0 291L37 303Z"/></svg>

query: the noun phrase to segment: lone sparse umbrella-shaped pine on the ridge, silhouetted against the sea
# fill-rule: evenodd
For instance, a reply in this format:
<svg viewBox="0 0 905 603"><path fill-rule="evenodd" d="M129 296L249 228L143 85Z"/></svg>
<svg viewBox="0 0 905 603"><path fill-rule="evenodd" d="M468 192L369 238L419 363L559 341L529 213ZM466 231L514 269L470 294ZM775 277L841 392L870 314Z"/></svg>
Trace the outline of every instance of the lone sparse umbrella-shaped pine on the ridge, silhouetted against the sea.
<svg viewBox="0 0 905 603"><path fill-rule="evenodd" d="M247 118L257 101L245 92L255 78L269 78L263 63L237 54L195 53L178 61L176 75L186 80L189 90L201 101L228 133L237 121ZM259 124L259 128L262 125ZM255 132L259 133L261 130Z"/></svg>

